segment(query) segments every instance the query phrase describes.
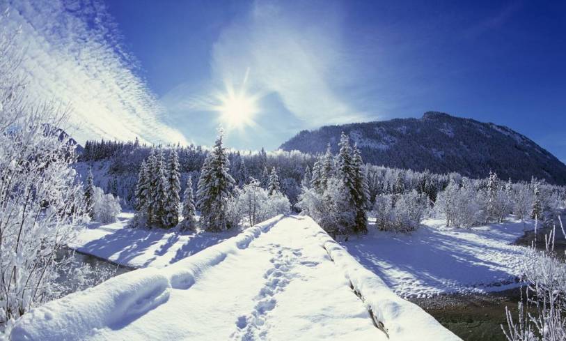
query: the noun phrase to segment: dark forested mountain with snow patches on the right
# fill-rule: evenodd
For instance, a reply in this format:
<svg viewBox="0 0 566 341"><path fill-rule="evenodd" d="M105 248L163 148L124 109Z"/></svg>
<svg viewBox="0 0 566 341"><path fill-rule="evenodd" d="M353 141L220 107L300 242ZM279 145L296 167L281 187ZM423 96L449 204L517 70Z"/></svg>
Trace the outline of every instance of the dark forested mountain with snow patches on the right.
<svg viewBox="0 0 566 341"><path fill-rule="evenodd" d="M505 126L425 112L420 119L392 119L303 130L279 147L322 153L330 144L338 152L340 132L358 144L363 160L373 165L417 171L459 172L481 178L492 170L500 179L566 185L566 165L524 135Z"/></svg>

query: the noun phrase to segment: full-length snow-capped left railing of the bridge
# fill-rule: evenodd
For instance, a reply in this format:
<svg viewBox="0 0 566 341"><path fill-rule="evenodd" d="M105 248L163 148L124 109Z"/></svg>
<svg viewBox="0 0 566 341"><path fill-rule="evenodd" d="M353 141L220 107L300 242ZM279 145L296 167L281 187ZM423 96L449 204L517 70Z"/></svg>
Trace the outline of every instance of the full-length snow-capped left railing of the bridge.
<svg viewBox="0 0 566 341"><path fill-rule="evenodd" d="M282 218L278 215L266 220L162 270L143 268L125 273L33 309L17 321L10 340L84 340L97 328L125 326L168 301L171 288L191 287L207 268L246 248Z"/></svg>

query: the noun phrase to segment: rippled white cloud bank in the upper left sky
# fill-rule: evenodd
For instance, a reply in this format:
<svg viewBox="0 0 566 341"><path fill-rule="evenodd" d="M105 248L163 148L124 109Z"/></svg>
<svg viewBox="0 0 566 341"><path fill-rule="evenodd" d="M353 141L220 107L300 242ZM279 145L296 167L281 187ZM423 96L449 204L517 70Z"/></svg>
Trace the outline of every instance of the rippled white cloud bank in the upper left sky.
<svg viewBox="0 0 566 341"><path fill-rule="evenodd" d="M121 46L116 24L99 1L17 0L8 3L6 29L21 28L17 43L34 100L71 107L71 135L186 142L164 123L136 61Z"/></svg>

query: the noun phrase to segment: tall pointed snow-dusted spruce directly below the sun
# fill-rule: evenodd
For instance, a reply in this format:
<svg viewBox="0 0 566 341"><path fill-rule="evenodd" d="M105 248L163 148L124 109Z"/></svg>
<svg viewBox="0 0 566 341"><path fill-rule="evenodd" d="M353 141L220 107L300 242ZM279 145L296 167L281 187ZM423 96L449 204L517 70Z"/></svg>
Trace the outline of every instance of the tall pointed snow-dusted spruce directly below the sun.
<svg viewBox="0 0 566 341"><path fill-rule="evenodd" d="M232 195L234 179L228 173L230 161L222 146L222 132L208 154L196 190L201 224L209 231L224 231L232 226L226 218L228 199Z"/></svg>

